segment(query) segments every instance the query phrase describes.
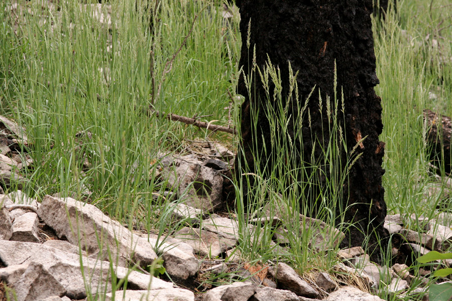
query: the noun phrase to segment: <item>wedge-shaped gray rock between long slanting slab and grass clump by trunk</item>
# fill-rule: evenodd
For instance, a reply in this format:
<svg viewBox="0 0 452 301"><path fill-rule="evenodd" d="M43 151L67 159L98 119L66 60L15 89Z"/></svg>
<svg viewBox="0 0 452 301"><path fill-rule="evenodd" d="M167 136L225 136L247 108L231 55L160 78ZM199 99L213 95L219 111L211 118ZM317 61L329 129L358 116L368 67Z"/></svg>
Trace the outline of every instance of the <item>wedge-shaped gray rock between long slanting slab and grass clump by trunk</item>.
<svg viewBox="0 0 452 301"><path fill-rule="evenodd" d="M193 250L202 257L215 258L221 253L233 248L235 240L220 237L218 234L206 230L185 227L175 235L193 247Z"/></svg>

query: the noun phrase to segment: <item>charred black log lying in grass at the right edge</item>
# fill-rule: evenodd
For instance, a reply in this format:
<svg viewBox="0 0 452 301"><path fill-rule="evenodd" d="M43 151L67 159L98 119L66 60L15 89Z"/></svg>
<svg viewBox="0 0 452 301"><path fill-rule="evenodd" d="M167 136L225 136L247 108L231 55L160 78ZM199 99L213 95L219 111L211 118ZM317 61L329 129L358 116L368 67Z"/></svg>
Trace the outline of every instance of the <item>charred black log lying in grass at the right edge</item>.
<svg viewBox="0 0 452 301"><path fill-rule="evenodd" d="M452 121L448 116L442 116L429 109L424 110L424 120L427 122L427 147L431 163L441 172L450 175L452 170Z"/></svg>

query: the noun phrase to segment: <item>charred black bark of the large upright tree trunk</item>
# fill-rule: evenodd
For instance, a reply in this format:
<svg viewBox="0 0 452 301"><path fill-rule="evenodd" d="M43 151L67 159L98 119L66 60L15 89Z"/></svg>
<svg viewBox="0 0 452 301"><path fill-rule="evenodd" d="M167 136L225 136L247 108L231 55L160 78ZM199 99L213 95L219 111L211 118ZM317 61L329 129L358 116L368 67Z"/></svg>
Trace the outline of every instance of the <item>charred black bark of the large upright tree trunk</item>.
<svg viewBox="0 0 452 301"><path fill-rule="evenodd" d="M268 57L273 65L279 67L282 99L287 99L289 91L288 62L294 72L299 72L299 103L290 103L288 114L299 115L298 107L304 105L306 97L315 86L313 95L316 96L312 96L307 104L310 124L308 118L303 118L301 124L303 143L299 146L300 164L310 162L310 158L323 156L320 147L313 148L313 140L324 146L329 139L329 133L324 131L329 122L326 106L323 105L322 110L319 110L318 93L320 91L324 101L326 96L333 101L336 63L337 97L341 99L343 96L345 99L345 112L339 112L338 119L344 121L342 128L348 152L361 137L367 136L356 150L362 156L350 170L348 185L344 188L344 201L348 203L344 203L343 208L336 208L345 209L350 205L345 218L356 226L347 233L343 246L360 246L368 239L370 251L377 251L371 257L378 261L379 247L384 250L387 246L387 235L383 228L386 203L382 187L384 170L381 167L384 143L378 138L383 129L382 107L381 99L374 91L374 86L379 81L375 72L371 29L372 0L240 0L237 4L241 13L242 33L240 66L244 70L244 76L239 79L238 92L245 96L245 102L241 108L241 143L244 155L239 155L236 160L236 171L240 173L239 166L245 166L245 163L250 167L250 172L258 168L253 155L256 148L262 149L265 146L267 154L271 154L274 149L270 141L269 120L265 115L267 108L264 99L267 94L259 79L251 83L251 93L245 84L245 78L253 64L253 47L256 48L258 67L263 68ZM250 19L251 47L248 49ZM340 93L341 89L343 95ZM259 108L259 116L254 132L252 111L256 108ZM295 130L289 128L288 134L293 134ZM342 157L345 162L345 152ZM257 164L261 168L266 164L271 165L270 156L261 158ZM325 182L326 178L323 177L320 181ZM310 205L314 208L319 206L315 201Z"/></svg>

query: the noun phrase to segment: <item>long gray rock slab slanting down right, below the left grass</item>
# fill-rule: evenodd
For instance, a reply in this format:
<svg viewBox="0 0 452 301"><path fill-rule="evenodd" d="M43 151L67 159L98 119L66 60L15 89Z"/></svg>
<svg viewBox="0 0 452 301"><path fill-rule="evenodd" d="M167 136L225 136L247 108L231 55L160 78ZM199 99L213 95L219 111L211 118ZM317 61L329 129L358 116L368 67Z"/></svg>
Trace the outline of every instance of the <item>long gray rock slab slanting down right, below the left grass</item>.
<svg viewBox="0 0 452 301"><path fill-rule="evenodd" d="M55 230L58 237L66 238L75 245L82 243L82 250L88 254L100 252L102 259L108 259L110 252L118 265L126 266L129 258L132 258L140 265L147 266L157 258L149 243L92 205L71 198L45 196L39 216ZM100 246L99 236L103 241Z"/></svg>

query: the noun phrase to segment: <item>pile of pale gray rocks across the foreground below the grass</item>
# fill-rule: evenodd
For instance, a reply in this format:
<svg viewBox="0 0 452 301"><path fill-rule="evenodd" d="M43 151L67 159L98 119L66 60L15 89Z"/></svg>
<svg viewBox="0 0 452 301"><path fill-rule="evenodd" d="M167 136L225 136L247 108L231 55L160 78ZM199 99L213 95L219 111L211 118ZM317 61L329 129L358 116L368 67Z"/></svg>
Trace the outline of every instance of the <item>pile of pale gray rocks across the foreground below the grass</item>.
<svg viewBox="0 0 452 301"><path fill-rule="evenodd" d="M203 295L204 300L380 300L351 286L339 287L347 281L327 273L319 272L312 280L301 278L283 262L257 267L242 264L234 249L239 238L237 221L216 214L203 216L203 211L183 204L176 206L173 214L202 220L202 227L183 228L165 240L130 231L96 207L71 198L45 196L38 203L16 191L0 198L0 208L0 262L4 265L0 281L11 287L20 301L79 300L96 294L107 300L113 294L119 300L194 300L192 291L146 271L159 260L158 254L176 282L242 269L237 280L244 282L212 288ZM409 263L411 253L418 256L427 248L442 250L452 240L452 231L432 220L419 218L425 233L404 229L398 215L386 220L393 242L399 240L399 248L393 250L399 261ZM52 228L59 239L46 237L43 227ZM312 242L316 241L313 238ZM217 259L222 257L225 259ZM389 285L391 292L403 293L415 279L405 264L389 268L372 263L361 247L341 250L337 257L343 263L336 271L354 275L365 290ZM117 290L118 283L125 280L127 288Z"/></svg>

